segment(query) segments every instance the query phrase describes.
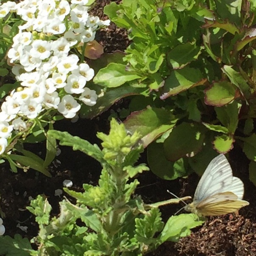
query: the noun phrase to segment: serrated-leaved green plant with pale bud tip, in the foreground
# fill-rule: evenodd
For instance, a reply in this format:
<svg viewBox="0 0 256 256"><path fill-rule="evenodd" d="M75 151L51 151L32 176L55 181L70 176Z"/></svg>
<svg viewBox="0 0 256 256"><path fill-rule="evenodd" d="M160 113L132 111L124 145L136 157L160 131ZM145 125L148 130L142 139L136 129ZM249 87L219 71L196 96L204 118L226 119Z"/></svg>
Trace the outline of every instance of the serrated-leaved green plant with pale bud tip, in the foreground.
<svg viewBox="0 0 256 256"><path fill-rule="evenodd" d="M38 249L32 250L27 238L1 236L1 255L140 256L166 240L178 241L190 234L190 228L202 224L194 214L181 214L170 217L164 226L158 207L180 200L144 204L140 196L134 195L139 182L133 178L148 167L134 166L143 151L139 143L141 136L137 132L127 134L124 124L112 119L109 135L97 134L103 141L102 150L67 132L51 130L48 133L60 140L61 145L73 146L74 150L98 160L102 165L99 184L84 184L83 193L64 188L76 199L76 204L64 199L60 202L58 217L50 218L51 205L47 198L38 196L31 201L27 209L36 215L40 229L31 242Z"/></svg>

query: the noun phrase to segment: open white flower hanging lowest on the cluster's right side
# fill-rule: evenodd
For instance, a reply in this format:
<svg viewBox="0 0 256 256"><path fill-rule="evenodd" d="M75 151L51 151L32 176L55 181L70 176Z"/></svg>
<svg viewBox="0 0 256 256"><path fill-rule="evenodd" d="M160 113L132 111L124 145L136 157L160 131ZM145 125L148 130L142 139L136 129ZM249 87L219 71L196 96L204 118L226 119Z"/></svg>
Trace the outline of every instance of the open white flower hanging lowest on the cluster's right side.
<svg viewBox="0 0 256 256"><path fill-rule="evenodd" d="M58 111L66 118L76 116L76 112L81 108L71 95L65 95L58 106Z"/></svg>

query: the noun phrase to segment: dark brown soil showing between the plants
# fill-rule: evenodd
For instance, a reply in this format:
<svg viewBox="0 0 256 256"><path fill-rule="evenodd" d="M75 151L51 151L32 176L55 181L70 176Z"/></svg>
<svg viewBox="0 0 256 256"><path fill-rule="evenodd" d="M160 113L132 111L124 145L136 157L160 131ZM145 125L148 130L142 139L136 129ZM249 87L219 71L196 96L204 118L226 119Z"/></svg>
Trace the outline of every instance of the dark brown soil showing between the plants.
<svg viewBox="0 0 256 256"><path fill-rule="evenodd" d="M110 0L98 0L93 9L93 14L106 19L103 15L103 7L109 4ZM116 1L117 3L120 1ZM115 50L124 51L129 45L127 33L124 29L117 29L111 24L108 29L102 29L98 34L97 40L104 46L105 52ZM122 106L122 102L116 103L112 109ZM100 144L96 138L96 132L106 132L109 130L108 116L110 111L103 113L100 117L93 120L80 119L77 123L69 120L57 122L54 125L56 130L68 131L72 135L80 136L91 143ZM27 144L26 149L44 157L45 144ZM97 184L100 174L100 164L89 156L79 151L73 151L68 147L61 147L61 154L56 157L50 166L52 178L48 178L34 170L28 172L19 171L12 173L8 164L1 165L1 188L0 206L5 213L4 226L5 235L14 236L21 234L31 239L37 235L38 226L35 218L27 210L29 196L35 198L38 194L48 197L53 207L52 214L59 213L59 201L63 196L54 196L55 189L62 188L65 179L73 181L72 189L82 191L83 183ZM146 155L143 154L140 161L146 162ZM254 256L256 255L256 188L249 181L248 160L236 146L230 152L230 164L234 176L241 178L245 186L244 199L250 205L242 208L239 214L228 214L223 217L211 217L206 223L193 230L191 236L180 239L178 243L166 242L155 252L148 256L176 256L176 255L195 255L195 256ZM151 172L141 174L138 179L140 185L136 190L145 203L163 201L170 198L166 192L171 190L177 196L192 196L196 184L199 180L196 174L192 174L188 179L174 181L161 180ZM167 205L161 208L163 220L166 221L182 205ZM17 224L27 226L27 233L17 228Z"/></svg>

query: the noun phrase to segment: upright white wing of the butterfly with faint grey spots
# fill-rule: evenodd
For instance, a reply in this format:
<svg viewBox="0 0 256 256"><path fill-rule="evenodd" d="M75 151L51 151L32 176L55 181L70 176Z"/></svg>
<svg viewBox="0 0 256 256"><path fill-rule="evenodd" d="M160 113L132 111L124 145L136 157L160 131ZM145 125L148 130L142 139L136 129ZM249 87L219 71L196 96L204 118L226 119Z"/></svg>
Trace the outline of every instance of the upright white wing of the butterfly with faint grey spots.
<svg viewBox="0 0 256 256"><path fill-rule="evenodd" d="M233 188L235 186L235 188ZM194 196L195 204L218 193L231 191L238 193L238 198L244 195L243 182L233 177L232 169L227 158L220 154L212 159L201 177Z"/></svg>

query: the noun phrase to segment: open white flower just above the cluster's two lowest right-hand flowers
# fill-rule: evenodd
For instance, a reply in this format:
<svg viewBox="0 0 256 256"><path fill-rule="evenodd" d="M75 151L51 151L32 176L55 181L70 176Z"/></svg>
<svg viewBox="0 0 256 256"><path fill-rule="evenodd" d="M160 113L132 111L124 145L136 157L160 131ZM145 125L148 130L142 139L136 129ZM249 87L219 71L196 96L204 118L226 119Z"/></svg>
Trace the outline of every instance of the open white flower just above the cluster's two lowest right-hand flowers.
<svg viewBox="0 0 256 256"><path fill-rule="evenodd" d="M64 87L64 90L70 94L76 93L80 94L84 92L84 86L86 84L86 79L84 76L70 75L68 76L67 85Z"/></svg>

